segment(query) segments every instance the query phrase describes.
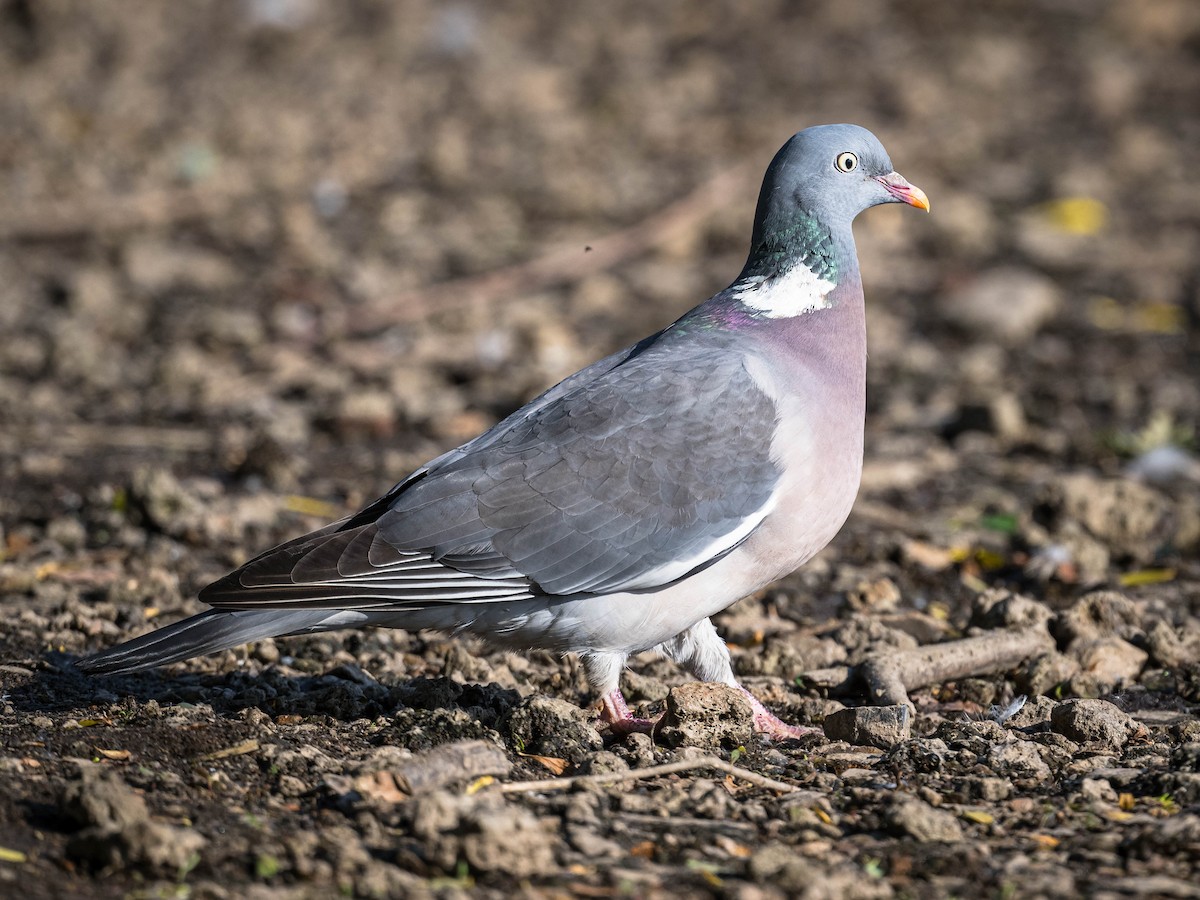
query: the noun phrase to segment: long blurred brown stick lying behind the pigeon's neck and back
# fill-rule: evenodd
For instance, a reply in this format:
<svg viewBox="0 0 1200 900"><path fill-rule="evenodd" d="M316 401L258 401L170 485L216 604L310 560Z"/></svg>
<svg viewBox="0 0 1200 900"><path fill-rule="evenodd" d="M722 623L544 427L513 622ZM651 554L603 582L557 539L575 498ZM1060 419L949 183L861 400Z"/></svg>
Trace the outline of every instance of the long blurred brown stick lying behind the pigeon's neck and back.
<svg viewBox="0 0 1200 900"><path fill-rule="evenodd" d="M749 175L750 169L744 164L725 169L653 216L593 241L586 251L578 241L571 241L524 263L418 288L365 306L355 312L350 335L362 336L433 311L484 305L611 269L686 234L719 206L743 196Z"/></svg>

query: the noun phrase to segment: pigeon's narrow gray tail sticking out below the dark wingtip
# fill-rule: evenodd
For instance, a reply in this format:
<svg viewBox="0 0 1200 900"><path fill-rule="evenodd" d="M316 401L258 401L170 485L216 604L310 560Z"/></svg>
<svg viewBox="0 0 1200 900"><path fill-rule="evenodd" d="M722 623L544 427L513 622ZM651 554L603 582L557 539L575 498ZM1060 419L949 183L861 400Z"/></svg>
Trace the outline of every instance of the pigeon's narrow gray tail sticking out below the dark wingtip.
<svg viewBox="0 0 1200 900"><path fill-rule="evenodd" d="M89 674L120 674L164 666L230 647L304 631L328 631L347 623L330 610L209 610L76 662Z"/></svg>

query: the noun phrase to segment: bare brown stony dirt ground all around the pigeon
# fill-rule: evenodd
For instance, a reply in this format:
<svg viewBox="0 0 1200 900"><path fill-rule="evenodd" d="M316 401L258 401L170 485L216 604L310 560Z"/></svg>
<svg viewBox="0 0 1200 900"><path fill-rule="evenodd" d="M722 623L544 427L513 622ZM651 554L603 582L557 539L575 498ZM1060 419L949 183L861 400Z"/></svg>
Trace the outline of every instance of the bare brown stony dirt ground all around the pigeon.
<svg viewBox="0 0 1200 900"><path fill-rule="evenodd" d="M1200 5L512 6L0 5L0 894L1200 896ZM822 121L934 208L858 226L851 522L719 619L828 739L433 634L71 668L724 287Z"/></svg>

